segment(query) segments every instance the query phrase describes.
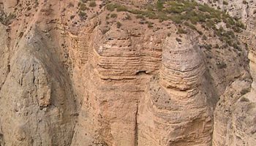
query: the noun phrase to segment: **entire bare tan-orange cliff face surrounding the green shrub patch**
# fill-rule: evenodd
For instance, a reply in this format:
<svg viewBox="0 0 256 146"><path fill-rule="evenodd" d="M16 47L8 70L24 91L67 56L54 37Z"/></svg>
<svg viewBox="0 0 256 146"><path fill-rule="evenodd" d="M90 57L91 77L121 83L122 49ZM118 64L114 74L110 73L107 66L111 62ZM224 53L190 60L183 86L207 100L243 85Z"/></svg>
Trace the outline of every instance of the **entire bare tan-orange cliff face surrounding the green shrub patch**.
<svg viewBox="0 0 256 146"><path fill-rule="evenodd" d="M0 145L255 145L255 23L248 61L95 2L0 1Z"/></svg>

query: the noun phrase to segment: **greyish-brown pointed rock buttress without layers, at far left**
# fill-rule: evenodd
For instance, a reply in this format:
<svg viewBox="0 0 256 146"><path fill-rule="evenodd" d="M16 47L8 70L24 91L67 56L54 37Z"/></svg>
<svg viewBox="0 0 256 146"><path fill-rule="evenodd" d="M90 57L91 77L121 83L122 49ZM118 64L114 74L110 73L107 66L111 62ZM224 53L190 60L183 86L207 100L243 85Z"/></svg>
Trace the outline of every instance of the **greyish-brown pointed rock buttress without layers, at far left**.
<svg viewBox="0 0 256 146"><path fill-rule="evenodd" d="M2 145L70 145L75 102L69 81L50 63L44 42L37 41L40 50L35 50L31 40L23 41L1 84Z"/></svg>

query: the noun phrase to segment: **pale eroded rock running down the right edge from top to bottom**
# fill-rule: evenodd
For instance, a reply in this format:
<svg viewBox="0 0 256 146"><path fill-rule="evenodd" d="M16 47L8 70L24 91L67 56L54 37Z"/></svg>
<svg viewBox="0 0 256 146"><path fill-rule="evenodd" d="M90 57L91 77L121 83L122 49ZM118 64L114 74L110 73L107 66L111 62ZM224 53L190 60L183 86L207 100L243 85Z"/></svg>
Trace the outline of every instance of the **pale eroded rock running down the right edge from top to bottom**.
<svg viewBox="0 0 256 146"><path fill-rule="evenodd" d="M209 1L205 1L209 2ZM220 97L214 112L213 145L256 145L255 143L255 1L222 1L212 4L225 9L246 23L238 35L249 49L250 79L241 77L230 83Z"/></svg>

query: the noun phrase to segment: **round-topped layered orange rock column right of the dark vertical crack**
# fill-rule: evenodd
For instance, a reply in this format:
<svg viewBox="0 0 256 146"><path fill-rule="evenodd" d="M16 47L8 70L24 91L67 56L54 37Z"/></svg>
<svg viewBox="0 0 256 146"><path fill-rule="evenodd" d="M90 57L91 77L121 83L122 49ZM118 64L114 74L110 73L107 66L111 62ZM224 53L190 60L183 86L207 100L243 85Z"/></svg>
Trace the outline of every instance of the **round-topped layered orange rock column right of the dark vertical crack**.
<svg viewBox="0 0 256 146"><path fill-rule="evenodd" d="M211 144L211 115L200 90L203 58L192 40L177 40L165 40L159 79L139 109L139 145Z"/></svg>

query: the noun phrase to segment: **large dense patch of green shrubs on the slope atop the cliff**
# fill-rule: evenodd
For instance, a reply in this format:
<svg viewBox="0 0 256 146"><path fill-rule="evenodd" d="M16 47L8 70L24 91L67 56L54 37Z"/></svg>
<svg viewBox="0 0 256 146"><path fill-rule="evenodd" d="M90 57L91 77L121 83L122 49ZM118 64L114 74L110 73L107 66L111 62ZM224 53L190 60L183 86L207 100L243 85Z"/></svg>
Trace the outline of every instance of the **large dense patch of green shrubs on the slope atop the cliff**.
<svg viewBox="0 0 256 146"><path fill-rule="evenodd" d="M227 4L227 1L223 1ZM209 7L207 4L198 4L195 1L164 1L158 0L155 5L148 5L145 9L131 9L121 4L109 3L106 6L110 12L129 12L136 15L136 18L141 19L140 23L145 23L146 19L159 19L159 22L164 20L172 20L176 24L184 24L188 28L197 31L203 36L203 32L197 30L197 24L200 23L206 30L214 31L219 39L225 44L241 50L238 45L238 40L234 32L240 33L246 27L240 20L232 18L226 12ZM115 18L111 16L110 18ZM217 28L218 23L225 23L227 29ZM150 24L148 24L151 27ZM179 28L178 34L186 34L184 30ZM206 37L204 37L206 39Z"/></svg>

